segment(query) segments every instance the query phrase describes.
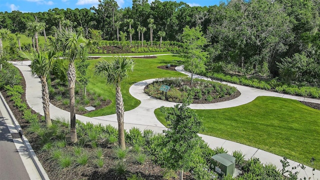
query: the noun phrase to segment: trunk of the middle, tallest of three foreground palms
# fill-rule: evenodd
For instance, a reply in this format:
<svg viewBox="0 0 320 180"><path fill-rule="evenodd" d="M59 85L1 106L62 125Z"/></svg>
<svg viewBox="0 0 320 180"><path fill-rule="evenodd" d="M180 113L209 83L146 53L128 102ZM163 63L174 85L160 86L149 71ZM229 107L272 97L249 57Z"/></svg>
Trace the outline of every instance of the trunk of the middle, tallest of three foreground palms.
<svg viewBox="0 0 320 180"><path fill-rule="evenodd" d="M68 65L68 84L69 84L69 94L70 94L70 136L71 142L76 142L76 129L75 129L75 101L74 101L74 83L75 83L75 67L74 62L70 61Z"/></svg>

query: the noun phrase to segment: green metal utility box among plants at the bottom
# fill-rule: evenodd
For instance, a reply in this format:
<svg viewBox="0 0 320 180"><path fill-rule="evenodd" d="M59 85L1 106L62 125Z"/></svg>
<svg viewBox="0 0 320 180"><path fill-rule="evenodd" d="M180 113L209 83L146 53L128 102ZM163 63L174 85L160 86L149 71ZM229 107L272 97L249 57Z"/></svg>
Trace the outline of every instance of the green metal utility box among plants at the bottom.
<svg viewBox="0 0 320 180"><path fill-rule="evenodd" d="M227 153L218 153L211 157L211 169L219 176L233 175L235 168L235 157Z"/></svg>

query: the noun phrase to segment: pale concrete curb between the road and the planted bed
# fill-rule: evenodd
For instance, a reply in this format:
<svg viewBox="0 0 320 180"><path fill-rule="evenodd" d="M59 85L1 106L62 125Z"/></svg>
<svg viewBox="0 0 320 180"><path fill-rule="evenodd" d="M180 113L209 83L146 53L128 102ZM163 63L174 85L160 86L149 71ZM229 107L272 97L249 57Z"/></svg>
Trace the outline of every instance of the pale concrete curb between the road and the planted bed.
<svg viewBox="0 0 320 180"><path fill-rule="evenodd" d="M9 114L11 121L15 127L15 129L21 134L21 140L23 142L23 144L26 147L27 152L29 153L30 158L32 159L32 162L34 164L34 166L36 167L39 175L41 176L41 179L43 180L49 180L49 177L47 175L47 173L45 172L44 168L42 167L42 164L40 163L40 161L38 160L38 158L36 157L35 152L33 151L31 144L29 143L29 140L23 135L22 129L20 127L20 124L18 123L18 121L15 119L11 109L9 108L8 104L6 103L6 101L4 100L4 97L2 96L2 93L0 92L0 98L1 101L7 111L7 113Z"/></svg>

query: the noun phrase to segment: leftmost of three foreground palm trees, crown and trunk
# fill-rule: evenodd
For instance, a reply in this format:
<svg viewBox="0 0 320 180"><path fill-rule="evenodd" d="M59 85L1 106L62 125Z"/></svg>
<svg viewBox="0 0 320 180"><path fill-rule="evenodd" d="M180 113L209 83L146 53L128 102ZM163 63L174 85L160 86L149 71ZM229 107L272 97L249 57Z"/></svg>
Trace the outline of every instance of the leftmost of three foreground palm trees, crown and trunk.
<svg viewBox="0 0 320 180"><path fill-rule="evenodd" d="M19 50L18 53L20 57L31 60L31 73L32 75L38 75L40 78L44 119L46 126L49 127L52 125L52 122L50 118L50 99L46 77L52 69L53 61L57 58L57 55L53 51L37 53L35 51L28 52Z"/></svg>

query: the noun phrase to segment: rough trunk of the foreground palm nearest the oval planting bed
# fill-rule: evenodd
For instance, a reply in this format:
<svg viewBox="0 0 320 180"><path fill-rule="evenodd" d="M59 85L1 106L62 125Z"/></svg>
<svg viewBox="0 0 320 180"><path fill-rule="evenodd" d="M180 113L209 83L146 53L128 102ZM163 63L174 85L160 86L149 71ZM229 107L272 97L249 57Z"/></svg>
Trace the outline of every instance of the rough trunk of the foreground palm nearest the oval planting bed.
<svg viewBox="0 0 320 180"><path fill-rule="evenodd" d="M118 140L119 146L121 149L125 149L124 142L124 106L123 106L123 98L121 94L121 88L119 85L115 87L115 112L116 112L116 120L118 121Z"/></svg>

